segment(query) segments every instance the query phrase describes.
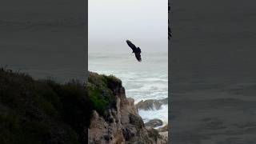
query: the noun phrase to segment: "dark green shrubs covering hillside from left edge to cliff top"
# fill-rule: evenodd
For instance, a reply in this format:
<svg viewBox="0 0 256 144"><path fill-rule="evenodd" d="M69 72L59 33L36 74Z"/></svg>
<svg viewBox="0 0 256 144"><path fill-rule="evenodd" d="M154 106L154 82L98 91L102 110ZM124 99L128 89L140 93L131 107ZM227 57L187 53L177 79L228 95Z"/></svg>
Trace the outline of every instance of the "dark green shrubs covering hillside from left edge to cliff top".
<svg viewBox="0 0 256 144"><path fill-rule="evenodd" d="M121 81L91 73L88 83L61 84L1 68L0 143L85 142L92 110L104 115L114 106L114 82Z"/></svg>

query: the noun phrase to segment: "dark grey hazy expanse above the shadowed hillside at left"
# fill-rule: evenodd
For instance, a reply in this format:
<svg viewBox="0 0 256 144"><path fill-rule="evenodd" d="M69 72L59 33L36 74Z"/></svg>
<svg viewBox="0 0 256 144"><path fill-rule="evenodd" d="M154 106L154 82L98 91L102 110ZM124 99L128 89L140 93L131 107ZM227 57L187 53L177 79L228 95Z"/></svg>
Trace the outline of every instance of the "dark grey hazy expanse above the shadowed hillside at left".
<svg viewBox="0 0 256 144"><path fill-rule="evenodd" d="M34 78L86 79L86 1L0 4L0 67Z"/></svg>

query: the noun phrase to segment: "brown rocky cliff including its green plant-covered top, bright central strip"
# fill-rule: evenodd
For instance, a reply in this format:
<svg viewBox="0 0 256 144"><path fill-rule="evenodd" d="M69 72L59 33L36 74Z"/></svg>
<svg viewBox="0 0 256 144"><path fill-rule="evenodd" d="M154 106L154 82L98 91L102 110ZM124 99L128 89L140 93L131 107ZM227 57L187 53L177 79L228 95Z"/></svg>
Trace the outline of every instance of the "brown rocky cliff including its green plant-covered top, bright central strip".
<svg viewBox="0 0 256 144"><path fill-rule="evenodd" d="M94 93L96 89L100 92L98 96L103 98L113 94L114 101L110 102L114 104L109 106L106 104L107 108L102 114L94 110L88 130L89 143L167 143L166 137L158 134L157 130L144 125L134 106L134 99L126 98L125 89L118 78L90 73L90 97L98 97L94 95L99 94Z"/></svg>

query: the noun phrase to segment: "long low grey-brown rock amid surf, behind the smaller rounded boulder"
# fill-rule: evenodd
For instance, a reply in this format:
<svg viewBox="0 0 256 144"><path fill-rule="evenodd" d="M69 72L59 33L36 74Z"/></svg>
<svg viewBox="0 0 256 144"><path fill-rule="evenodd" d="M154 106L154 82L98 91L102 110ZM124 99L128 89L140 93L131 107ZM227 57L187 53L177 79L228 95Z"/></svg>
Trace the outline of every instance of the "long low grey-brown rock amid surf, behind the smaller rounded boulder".
<svg viewBox="0 0 256 144"><path fill-rule="evenodd" d="M146 101L141 101L136 104L138 110L159 110L162 105L168 104L168 98L161 100L148 99Z"/></svg>

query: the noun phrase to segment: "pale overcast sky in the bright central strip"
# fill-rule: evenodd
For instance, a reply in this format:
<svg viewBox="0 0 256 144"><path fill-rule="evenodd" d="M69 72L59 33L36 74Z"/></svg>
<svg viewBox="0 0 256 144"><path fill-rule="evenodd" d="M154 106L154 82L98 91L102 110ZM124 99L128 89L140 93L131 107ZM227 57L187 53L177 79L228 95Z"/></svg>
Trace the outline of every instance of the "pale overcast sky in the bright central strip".
<svg viewBox="0 0 256 144"><path fill-rule="evenodd" d="M167 0L89 0L89 53L126 50L126 39L143 51L167 51L167 6Z"/></svg>

